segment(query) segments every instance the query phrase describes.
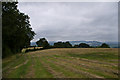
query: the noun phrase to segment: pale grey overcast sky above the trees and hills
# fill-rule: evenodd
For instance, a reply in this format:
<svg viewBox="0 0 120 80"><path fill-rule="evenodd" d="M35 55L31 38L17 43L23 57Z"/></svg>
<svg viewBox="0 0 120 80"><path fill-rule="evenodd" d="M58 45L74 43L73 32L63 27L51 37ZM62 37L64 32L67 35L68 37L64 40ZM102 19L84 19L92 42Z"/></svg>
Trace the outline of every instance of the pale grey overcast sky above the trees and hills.
<svg viewBox="0 0 120 80"><path fill-rule="evenodd" d="M29 15L34 41L118 40L117 2L20 2Z"/></svg>

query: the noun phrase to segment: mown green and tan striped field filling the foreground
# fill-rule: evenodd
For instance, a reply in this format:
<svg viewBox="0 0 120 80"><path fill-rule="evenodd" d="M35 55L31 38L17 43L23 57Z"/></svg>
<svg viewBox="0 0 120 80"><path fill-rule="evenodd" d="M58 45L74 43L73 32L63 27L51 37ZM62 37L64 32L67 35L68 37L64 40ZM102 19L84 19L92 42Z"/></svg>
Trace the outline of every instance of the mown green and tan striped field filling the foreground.
<svg viewBox="0 0 120 80"><path fill-rule="evenodd" d="M118 78L117 48L56 48L3 59L4 78Z"/></svg>

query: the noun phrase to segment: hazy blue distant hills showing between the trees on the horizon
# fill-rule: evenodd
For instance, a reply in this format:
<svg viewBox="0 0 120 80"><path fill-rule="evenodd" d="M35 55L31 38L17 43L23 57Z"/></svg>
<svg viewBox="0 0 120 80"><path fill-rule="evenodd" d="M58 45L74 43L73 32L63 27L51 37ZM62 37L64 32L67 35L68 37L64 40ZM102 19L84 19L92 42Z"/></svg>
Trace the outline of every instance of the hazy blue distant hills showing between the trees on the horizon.
<svg viewBox="0 0 120 80"><path fill-rule="evenodd" d="M49 41L50 45L54 45L56 41ZM80 43L86 43L89 44L90 46L100 46L103 42L99 42L99 41L69 41L73 46L76 44L80 44ZM105 42L106 44L108 44L111 48L118 48L118 42ZM31 46L36 45L35 42L31 42ZM120 48L120 47L119 47Z"/></svg>

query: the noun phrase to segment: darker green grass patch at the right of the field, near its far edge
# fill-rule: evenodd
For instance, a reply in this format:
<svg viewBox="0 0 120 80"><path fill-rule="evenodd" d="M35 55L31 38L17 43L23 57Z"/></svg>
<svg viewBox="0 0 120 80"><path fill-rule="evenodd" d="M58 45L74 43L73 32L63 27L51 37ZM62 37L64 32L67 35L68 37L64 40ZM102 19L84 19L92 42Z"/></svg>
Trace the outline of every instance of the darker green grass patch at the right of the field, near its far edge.
<svg viewBox="0 0 120 80"><path fill-rule="evenodd" d="M115 55L111 52L92 52L86 54L76 54L76 53L69 53L71 57L78 57L78 58L86 58L92 60L110 60L110 59L118 59L118 55Z"/></svg>

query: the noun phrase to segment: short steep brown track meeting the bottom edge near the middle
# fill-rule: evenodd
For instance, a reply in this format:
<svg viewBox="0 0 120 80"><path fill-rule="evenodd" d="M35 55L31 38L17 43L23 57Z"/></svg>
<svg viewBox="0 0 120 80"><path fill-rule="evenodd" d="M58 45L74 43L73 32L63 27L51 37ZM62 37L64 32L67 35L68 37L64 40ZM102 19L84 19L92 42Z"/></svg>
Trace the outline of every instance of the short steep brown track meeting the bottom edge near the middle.
<svg viewBox="0 0 120 80"><path fill-rule="evenodd" d="M61 72L56 72L50 65L46 64L43 60L41 60L43 66L54 76L54 78L65 78L65 76Z"/></svg>

